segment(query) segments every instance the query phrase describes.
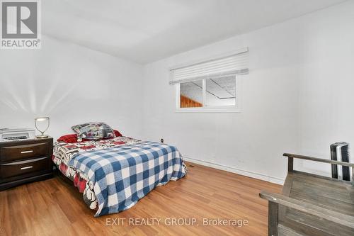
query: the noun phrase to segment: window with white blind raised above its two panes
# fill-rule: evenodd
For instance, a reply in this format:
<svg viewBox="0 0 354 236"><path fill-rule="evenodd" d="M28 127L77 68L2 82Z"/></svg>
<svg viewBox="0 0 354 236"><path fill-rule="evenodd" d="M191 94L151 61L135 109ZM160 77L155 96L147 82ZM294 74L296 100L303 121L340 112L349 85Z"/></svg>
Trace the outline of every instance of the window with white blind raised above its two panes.
<svg viewBox="0 0 354 236"><path fill-rule="evenodd" d="M171 69L176 86L176 110L239 112L238 79L248 74L248 48L226 57Z"/></svg>

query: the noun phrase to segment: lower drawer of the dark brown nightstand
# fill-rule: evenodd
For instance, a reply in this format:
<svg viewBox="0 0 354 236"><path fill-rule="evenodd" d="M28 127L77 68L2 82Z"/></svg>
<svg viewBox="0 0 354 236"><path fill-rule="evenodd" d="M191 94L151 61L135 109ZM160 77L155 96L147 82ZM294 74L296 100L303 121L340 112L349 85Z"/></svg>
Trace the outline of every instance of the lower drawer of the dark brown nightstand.
<svg viewBox="0 0 354 236"><path fill-rule="evenodd" d="M0 164L0 178L6 179L30 172L40 172L50 170L50 158L41 157L21 162L11 162Z"/></svg>

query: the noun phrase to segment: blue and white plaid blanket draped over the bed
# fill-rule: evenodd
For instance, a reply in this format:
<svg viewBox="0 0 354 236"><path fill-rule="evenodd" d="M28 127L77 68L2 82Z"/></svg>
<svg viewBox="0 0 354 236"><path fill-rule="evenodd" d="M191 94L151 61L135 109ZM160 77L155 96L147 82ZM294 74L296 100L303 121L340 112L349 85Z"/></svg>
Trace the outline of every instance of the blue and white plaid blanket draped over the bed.
<svg viewBox="0 0 354 236"><path fill-rule="evenodd" d="M95 216L126 210L156 186L180 179L186 172L176 147L158 142L81 152L68 165L92 181L98 201Z"/></svg>

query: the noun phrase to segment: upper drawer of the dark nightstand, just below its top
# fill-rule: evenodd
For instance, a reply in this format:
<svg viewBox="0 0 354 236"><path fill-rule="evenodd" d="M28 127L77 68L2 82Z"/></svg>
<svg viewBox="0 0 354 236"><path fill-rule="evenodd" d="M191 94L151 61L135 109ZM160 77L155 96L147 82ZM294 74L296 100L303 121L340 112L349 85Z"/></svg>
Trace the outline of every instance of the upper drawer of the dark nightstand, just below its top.
<svg viewBox="0 0 354 236"><path fill-rule="evenodd" d="M0 148L0 162L10 162L48 155L48 142Z"/></svg>

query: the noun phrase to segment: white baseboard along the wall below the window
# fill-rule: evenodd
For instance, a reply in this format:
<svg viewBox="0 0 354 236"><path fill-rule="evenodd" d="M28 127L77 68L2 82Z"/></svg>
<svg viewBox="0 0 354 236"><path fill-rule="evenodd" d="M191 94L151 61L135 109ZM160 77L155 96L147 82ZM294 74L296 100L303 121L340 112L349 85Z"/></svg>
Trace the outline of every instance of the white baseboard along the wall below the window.
<svg viewBox="0 0 354 236"><path fill-rule="evenodd" d="M227 167L227 166L224 166L222 164L215 164L215 163L212 163L212 162L205 162L205 161L201 161L199 159L193 159L193 158L190 158L190 157L184 157L183 156L183 160L185 160L187 162L193 162L195 164L201 164L201 165L203 165L205 167L212 167L212 168L215 168L215 169L224 170L226 172L232 172L232 173L235 173L235 174L241 174L241 175L248 176L248 177L251 177L251 178L254 178L254 179L261 179L261 180L268 181L268 182L274 183L274 184L283 185L284 181L285 181L285 179L280 179L280 178L277 178L277 177L274 177L274 176L268 176L268 175L265 175L265 174L257 174L257 173L254 173L254 172L245 171L243 169L236 169L236 168L233 168L233 167Z"/></svg>

